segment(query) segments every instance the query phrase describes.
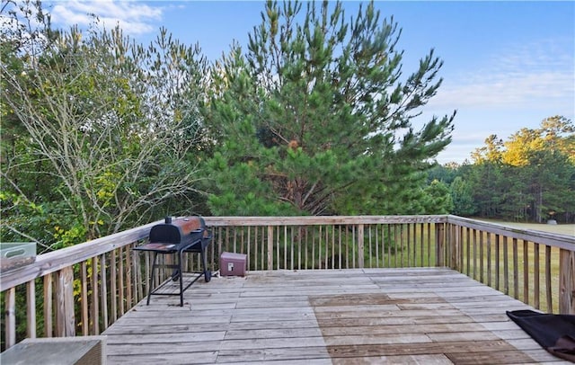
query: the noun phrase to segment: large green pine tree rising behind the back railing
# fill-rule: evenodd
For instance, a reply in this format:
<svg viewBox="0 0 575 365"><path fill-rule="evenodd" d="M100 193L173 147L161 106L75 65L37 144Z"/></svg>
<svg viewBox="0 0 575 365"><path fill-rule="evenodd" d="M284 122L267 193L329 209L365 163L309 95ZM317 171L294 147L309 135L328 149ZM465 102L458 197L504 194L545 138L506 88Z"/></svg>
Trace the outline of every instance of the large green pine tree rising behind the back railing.
<svg viewBox="0 0 575 365"><path fill-rule="evenodd" d="M403 76L397 24L381 21L373 4L350 22L341 3L305 6L266 3L245 56L234 47L212 71L209 207L230 215L406 213L397 187L416 200L420 172L450 141L453 116L411 126L441 84L442 62L431 50Z"/></svg>

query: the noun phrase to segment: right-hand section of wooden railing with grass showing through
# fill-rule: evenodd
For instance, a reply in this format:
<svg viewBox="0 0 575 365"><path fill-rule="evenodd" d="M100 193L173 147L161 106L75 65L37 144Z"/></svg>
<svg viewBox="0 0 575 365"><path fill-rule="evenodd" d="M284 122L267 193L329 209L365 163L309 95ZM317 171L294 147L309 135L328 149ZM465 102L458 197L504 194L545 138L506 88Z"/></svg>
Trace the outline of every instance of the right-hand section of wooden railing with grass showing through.
<svg viewBox="0 0 575 365"><path fill-rule="evenodd" d="M575 314L573 236L447 217L447 265L548 313Z"/></svg>

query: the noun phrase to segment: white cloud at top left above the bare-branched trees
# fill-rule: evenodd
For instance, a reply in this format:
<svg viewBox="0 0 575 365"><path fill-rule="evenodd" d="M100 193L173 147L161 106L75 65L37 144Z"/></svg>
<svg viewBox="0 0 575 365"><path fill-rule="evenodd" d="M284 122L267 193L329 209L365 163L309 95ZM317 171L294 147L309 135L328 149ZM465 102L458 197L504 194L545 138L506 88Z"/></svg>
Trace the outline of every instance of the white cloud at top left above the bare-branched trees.
<svg viewBox="0 0 575 365"><path fill-rule="evenodd" d="M128 34L139 35L155 31L155 23L162 20L164 7L150 6L137 1L66 0L53 3L52 21L58 25L85 26L96 15L107 29L116 25Z"/></svg>

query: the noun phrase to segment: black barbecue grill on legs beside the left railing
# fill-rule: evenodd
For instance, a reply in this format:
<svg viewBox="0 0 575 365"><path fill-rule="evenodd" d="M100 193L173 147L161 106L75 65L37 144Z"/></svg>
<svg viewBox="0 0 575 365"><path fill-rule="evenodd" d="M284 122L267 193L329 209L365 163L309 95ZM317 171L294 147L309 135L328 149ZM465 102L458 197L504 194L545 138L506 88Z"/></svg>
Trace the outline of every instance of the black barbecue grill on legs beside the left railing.
<svg viewBox="0 0 575 365"><path fill-rule="evenodd" d="M183 307L183 292L190 288L191 284L196 282L204 275L206 282L211 279L211 272L208 271L208 262L206 258L206 248L211 241L211 235L206 228L206 223L201 217L184 217L184 218L165 218L164 224L158 224L152 227L149 235L149 242L145 245L134 247L137 251L147 251L154 253L154 262L150 274L150 289L148 290L147 302L150 304L152 295L179 295L180 307ZM183 286L182 259L184 253L197 253L200 255L202 272L193 280ZM169 254L174 257L174 263L158 263L158 254ZM155 271L159 268L173 269L172 277L165 280L157 288L154 288ZM180 281L180 291L177 293L161 291L170 281Z"/></svg>

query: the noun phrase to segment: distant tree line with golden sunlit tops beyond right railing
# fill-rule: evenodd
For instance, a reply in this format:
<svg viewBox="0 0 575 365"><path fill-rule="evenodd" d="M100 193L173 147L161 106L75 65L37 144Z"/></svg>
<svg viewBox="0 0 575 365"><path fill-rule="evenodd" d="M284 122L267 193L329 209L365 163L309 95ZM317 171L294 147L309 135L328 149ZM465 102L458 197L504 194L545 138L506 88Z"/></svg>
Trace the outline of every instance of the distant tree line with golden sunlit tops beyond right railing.
<svg viewBox="0 0 575 365"><path fill-rule="evenodd" d="M473 163L438 166L429 181L450 186L461 216L512 221L575 222L575 128L562 116L520 129L503 141L495 135L472 154Z"/></svg>

